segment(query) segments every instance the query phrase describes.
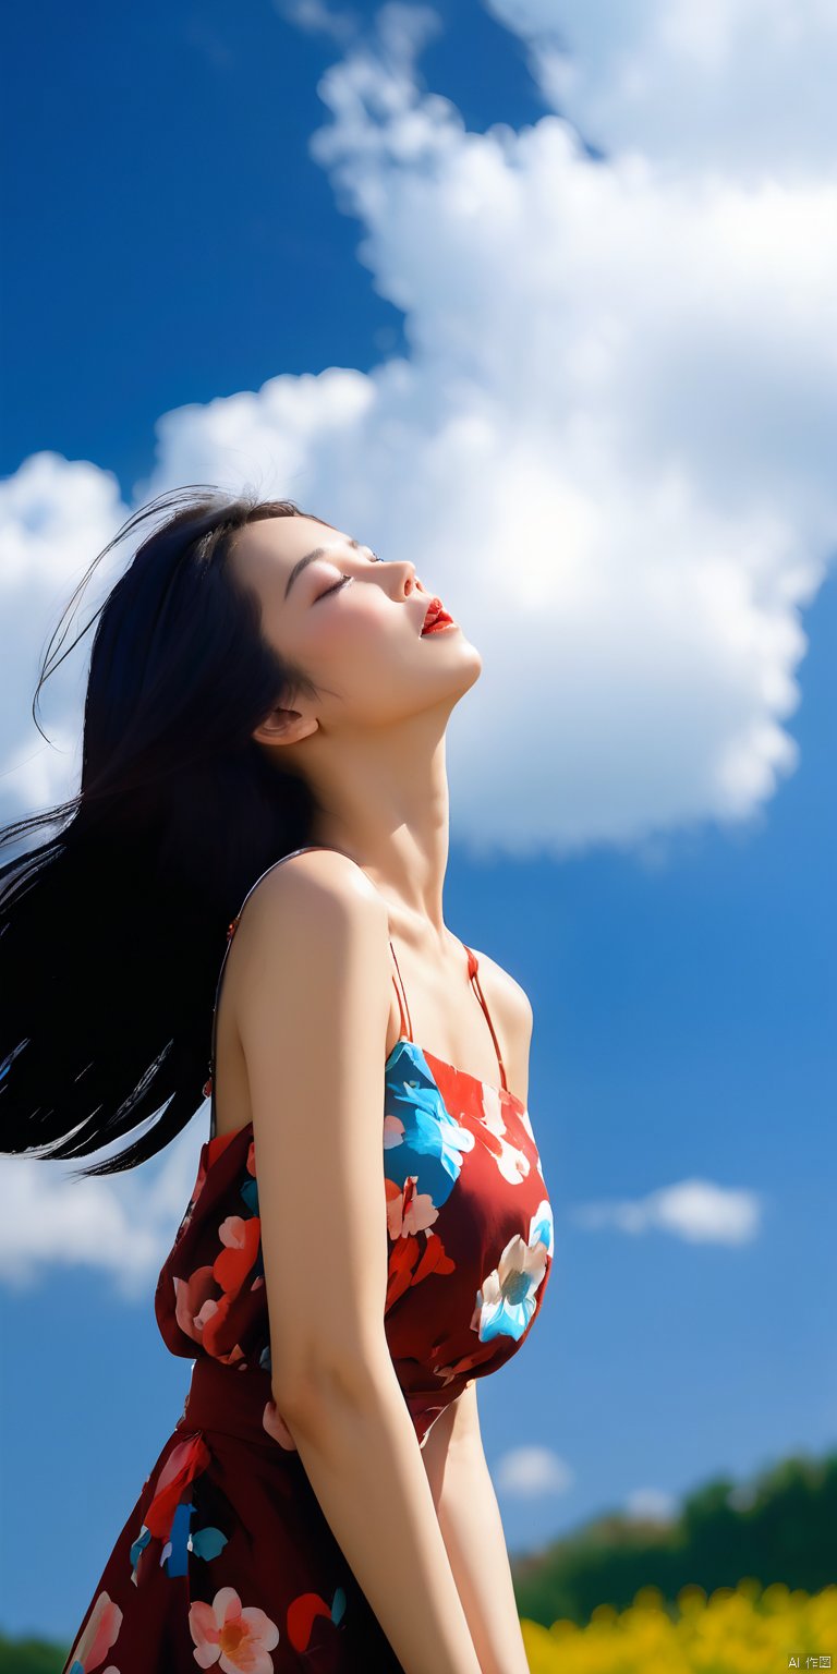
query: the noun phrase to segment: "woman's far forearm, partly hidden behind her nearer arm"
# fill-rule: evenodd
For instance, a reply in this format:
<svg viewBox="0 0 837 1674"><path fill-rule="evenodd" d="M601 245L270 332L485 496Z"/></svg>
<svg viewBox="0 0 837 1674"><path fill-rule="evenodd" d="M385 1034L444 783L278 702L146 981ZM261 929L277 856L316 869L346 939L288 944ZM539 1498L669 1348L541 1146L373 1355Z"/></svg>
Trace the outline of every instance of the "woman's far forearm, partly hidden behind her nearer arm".
<svg viewBox="0 0 837 1674"><path fill-rule="evenodd" d="M435 1420L424 1461L480 1674L529 1674L475 1381Z"/></svg>

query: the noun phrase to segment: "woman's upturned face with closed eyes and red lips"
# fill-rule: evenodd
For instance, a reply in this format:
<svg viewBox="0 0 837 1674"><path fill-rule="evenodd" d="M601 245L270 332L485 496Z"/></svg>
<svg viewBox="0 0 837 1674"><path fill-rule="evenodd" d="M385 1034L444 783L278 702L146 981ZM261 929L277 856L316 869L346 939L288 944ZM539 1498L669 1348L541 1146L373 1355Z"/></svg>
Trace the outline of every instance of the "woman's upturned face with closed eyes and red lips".
<svg viewBox="0 0 837 1674"><path fill-rule="evenodd" d="M482 671L459 626L422 638L434 589L413 564L385 554L377 561L340 529L303 516L266 517L239 532L233 562L261 599L264 636L320 690L318 698L293 698L308 723L377 727L452 706Z"/></svg>

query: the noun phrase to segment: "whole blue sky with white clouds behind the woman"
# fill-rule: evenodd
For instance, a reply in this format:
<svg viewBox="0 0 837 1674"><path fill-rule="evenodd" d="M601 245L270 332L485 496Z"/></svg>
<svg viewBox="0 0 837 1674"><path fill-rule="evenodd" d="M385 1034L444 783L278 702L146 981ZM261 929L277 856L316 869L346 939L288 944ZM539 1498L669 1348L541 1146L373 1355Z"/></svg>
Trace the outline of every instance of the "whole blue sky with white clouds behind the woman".
<svg viewBox="0 0 837 1674"><path fill-rule="evenodd" d="M661 42L629 0L631 102L609 8L547 10L50 0L5 18L0 117L2 817L60 795L47 624L146 489L275 472L474 621L445 914L532 999L556 1212L480 1386L514 1550L837 1430L835 42L804 5L782 49L777 5L758 79L743 3ZM74 1632L181 1413L152 1292L204 1133L90 1182L87 1234L0 1165L5 1630Z"/></svg>

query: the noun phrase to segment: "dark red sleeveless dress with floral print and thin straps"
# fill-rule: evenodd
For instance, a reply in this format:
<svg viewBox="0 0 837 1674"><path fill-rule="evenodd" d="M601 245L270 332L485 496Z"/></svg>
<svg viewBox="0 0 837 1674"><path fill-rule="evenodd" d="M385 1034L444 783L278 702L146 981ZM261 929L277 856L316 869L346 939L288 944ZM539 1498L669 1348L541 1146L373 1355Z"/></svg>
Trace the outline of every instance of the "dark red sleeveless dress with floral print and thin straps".
<svg viewBox="0 0 837 1674"><path fill-rule="evenodd" d="M218 998L253 889L218 978L209 1138L154 1296L166 1348L194 1359L189 1393L62 1674L403 1674L271 1396L253 1123L214 1132ZM474 1378L517 1353L552 1266L532 1127L506 1085L477 958L464 951L499 1086L413 1041L400 971L402 1035L383 1065L385 1334L418 1446ZM323 1235L313 1219L310 1237ZM288 1284L305 1286L305 1249Z"/></svg>

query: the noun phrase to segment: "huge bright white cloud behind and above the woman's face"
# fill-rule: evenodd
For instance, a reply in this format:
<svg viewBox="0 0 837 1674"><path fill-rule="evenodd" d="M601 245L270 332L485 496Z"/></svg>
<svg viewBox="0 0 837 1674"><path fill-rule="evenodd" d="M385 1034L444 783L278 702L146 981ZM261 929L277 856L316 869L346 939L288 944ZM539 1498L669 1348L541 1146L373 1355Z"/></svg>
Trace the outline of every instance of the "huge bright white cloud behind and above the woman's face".
<svg viewBox="0 0 837 1674"><path fill-rule="evenodd" d="M514 17L534 33L534 0ZM569 35L581 8L562 17ZM557 116L469 134L418 85L437 27L383 7L321 77L311 141L408 358L162 415L139 497L254 482L417 564L484 653L449 740L475 852L750 819L797 763L800 616L837 541L834 169L593 162ZM614 37L644 52L655 27L636 0ZM588 30L603 100L608 50ZM747 109L750 65L728 59ZM57 472L54 490L64 506ZM97 537L92 516L89 556ZM28 646L42 603L7 591Z"/></svg>

